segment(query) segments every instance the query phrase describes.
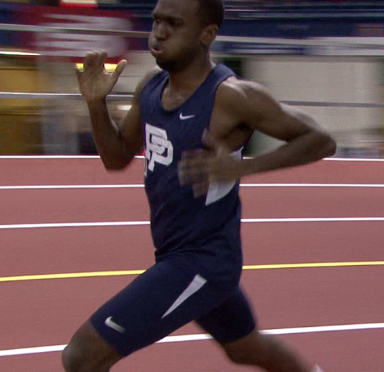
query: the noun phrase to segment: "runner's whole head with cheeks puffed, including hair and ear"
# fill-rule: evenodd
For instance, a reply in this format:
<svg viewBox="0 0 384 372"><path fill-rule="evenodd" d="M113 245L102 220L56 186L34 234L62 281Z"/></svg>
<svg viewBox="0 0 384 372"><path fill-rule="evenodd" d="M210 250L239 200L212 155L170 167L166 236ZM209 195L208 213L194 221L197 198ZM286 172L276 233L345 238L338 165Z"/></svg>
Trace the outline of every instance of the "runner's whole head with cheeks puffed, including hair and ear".
<svg viewBox="0 0 384 372"><path fill-rule="evenodd" d="M158 0L149 47L159 67L184 69L207 55L224 18L222 0Z"/></svg>

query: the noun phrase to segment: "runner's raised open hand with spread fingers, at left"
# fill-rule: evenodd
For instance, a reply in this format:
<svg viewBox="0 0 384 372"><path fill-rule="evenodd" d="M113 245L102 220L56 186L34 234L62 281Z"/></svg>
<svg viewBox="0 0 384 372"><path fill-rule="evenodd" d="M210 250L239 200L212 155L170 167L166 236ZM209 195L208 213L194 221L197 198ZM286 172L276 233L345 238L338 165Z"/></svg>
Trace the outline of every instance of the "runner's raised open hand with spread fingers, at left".
<svg viewBox="0 0 384 372"><path fill-rule="evenodd" d="M84 69L80 71L76 68L80 93L87 102L105 99L127 65L126 60L121 60L114 72L110 73L104 69L106 60L106 51L94 51L85 56Z"/></svg>

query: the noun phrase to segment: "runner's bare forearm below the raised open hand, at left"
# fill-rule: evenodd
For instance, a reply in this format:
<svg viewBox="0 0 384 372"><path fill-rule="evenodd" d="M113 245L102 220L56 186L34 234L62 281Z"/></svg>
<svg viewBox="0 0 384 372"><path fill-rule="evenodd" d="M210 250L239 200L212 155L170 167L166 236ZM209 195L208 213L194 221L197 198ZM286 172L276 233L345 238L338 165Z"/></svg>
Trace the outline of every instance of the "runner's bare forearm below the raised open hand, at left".
<svg viewBox="0 0 384 372"><path fill-rule="evenodd" d="M87 102L91 117L92 135L98 154L107 169L121 169L132 158L125 146L119 128L108 112L105 99Z"/></svg>

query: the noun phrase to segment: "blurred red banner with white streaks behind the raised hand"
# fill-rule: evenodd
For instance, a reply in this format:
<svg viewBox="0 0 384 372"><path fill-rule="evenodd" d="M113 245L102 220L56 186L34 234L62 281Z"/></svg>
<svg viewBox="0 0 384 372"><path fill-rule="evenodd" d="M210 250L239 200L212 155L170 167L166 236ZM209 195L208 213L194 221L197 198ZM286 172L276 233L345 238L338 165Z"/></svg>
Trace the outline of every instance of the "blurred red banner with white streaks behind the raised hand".
<svg viewBox="0 0 384 372"><path fill-rule="evenodd" d="M60 28L89 30L132 31L129 13L119 10L100 10L89 6L19 6L17 23ZM29 35L28 35L29 34ZM105 50L108 62L126 58L130 49L128 37L110 35L82 35L76 33L22 33L21 47L28 47L43 56L78 62L88 51Z"/></svg>

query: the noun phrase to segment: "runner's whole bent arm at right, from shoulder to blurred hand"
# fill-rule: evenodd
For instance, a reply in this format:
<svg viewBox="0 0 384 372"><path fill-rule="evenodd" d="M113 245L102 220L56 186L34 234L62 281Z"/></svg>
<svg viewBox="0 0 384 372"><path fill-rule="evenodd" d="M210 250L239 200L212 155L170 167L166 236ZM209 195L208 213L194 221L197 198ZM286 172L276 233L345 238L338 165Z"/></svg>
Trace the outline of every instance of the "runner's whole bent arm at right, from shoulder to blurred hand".
<svg viewBox="0 0 384 372"><path fill-rule="evenodd" d="M302 110L278 103L261 85L229 81L219 88L216 102L220 114L204 133L206 149L185 153L179 163L180 184L192 185L195 196L207 192L211 181L294 167L335 153L331 135ZM254 158L232 158L230 152L243 146L254 130L286 144Z"/></svg>

